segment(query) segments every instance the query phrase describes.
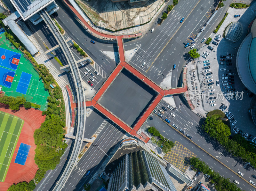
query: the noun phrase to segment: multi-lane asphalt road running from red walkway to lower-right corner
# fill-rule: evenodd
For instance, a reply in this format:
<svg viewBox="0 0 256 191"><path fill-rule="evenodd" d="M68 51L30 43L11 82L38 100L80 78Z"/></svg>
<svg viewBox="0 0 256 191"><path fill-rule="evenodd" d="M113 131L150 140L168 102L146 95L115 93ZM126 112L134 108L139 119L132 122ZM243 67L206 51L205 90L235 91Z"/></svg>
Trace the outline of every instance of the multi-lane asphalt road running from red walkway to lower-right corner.
<svg viewBox="0 0 256 191"><path fill-rule="evenodd" d="M202 124L204 120L197 116L195 113L193 113L190 109L188 109L188 107L184 106L181 96L175 95L174 100L178 108L172 110L172 113L175 112L175 117L172 117L170 115L170 109L168 109L164 113L163 118L160 118L156 114L151 114L153 120L150 121L148 119L143 125L144 129L148 126L154 126L164 137L168 138L173 142L178 141L179 143L181 143L187 149L196 154L197 157L203 160L210 168L212 168L212 170L219 173L221 176L225 178L230 178L230 181L238 180L239 185L237 186L240 187L242 190L254 190L254 187L252 187L251 185L248 187L248 183L237 175L237 172L240 171L244 173L243 178L245 180L253 180L252 174L255 174L254 170L244 169L243 161L239 161L231 157L227 152L225 152L221 145L212 140L211 137L208 137L204 134L200 127L200 124ZM180 103L182 103L182 106L180 106ZM166 103L165 101L161 101L157 106L157 110L162 106L167 108L167 105L170 104ZM164 121L166 118L171 121L169 124ZM173 123L178 126L177 129L172 127ZM185 133L180 133L180 129L183 129ZM186 137L186 134L191 135L192 138L188 139ZM228 166L228 168L233 170L235 173L233 173L227 167L212 158L194 143L199 145L201 148L203 148L205 151L210 153L218 160L220 160L224 165Z"/></svg>

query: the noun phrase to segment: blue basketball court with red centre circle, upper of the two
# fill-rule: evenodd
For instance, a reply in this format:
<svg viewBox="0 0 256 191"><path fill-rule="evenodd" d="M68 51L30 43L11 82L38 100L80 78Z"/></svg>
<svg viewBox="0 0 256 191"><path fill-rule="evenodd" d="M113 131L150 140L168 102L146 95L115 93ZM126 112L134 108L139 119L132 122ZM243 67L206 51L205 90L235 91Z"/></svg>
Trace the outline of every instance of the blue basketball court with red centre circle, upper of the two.
<svg viewBox="0 0 256 191"><path fill-rule="evenodd" d="M4 66L11 70L17 70L20 57L21 54L17 52L0 48L0 66ZM14 63L14 60L17 61L16 64Z"/></svg>

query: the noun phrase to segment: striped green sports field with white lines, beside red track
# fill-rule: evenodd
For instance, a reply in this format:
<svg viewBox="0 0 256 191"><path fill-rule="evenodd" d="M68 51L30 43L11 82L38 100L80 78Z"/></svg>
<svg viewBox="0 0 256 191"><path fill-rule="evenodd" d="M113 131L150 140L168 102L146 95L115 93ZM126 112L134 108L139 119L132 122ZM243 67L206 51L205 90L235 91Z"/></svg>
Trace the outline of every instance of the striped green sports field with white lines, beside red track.
<svg viewBox="0 0 256 191"><path fill-rule="evenodd" d="M0 181L4 181L24 121L0 111Z"/></svg>

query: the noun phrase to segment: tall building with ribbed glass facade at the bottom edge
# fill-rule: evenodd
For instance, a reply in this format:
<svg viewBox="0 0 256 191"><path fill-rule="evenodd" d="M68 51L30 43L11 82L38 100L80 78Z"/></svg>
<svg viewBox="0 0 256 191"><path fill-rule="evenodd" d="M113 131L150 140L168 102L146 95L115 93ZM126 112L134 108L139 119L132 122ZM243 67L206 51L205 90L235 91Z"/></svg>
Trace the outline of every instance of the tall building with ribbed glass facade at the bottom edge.
<svg viewBox="0 0 256 191"><path fill-rule="evenodd" d="M125 154L116 165L108 191L176 191L164 166L147 151Z"/></svg>

